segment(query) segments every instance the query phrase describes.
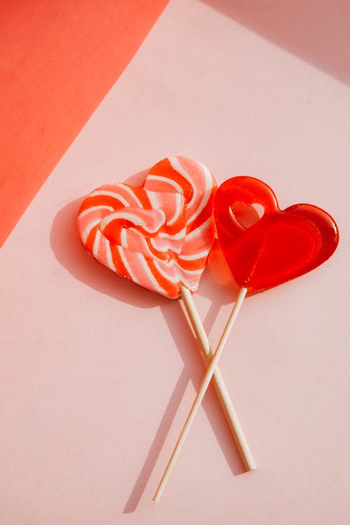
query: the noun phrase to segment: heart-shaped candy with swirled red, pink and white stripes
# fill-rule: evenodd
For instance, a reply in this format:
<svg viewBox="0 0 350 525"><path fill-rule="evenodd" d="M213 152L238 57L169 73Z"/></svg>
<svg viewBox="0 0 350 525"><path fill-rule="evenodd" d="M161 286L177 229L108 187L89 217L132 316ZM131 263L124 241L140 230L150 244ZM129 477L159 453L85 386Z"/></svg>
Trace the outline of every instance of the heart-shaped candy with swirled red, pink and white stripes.
<svg viewBox="0 0 350 525"><path fill-rule="evenodd" d="M104 266L172 299L197 290L214 241L216 181L200 162L171 157L153 166L143 188L101 186L86 197L78 232Z"/></svg>

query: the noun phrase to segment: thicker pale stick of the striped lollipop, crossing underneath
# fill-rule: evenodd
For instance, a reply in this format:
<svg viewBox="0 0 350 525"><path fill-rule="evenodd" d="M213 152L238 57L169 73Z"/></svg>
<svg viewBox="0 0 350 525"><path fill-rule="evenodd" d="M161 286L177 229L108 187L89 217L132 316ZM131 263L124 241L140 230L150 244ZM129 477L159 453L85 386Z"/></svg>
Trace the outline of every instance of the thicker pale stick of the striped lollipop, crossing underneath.
<svg viewBox="0 0 350 525"><path fill-rule="evenodd" d="M213 357L213 351L211 350L208 336L204 330L202 321L200 320L195 303L193 302L192 294L188 288L185 288L185 286L181 287L181 297L185 304L188 316L190 317L193 330L195 330L197 340L200 343L202 355L206 362L209 363ZM254 470L256 465L253 454L251 453L251 449L249 448L248 442L246 441L243 429L241 428L241 423L239 423L237 412L235 411L235 407L233 406L232 400L230 398L230 393L228 392L228 388L225 385L225 381L223 380L223 376L221 375L218 366L214 372L213 381L244 465L247 470Z"/></svg>

